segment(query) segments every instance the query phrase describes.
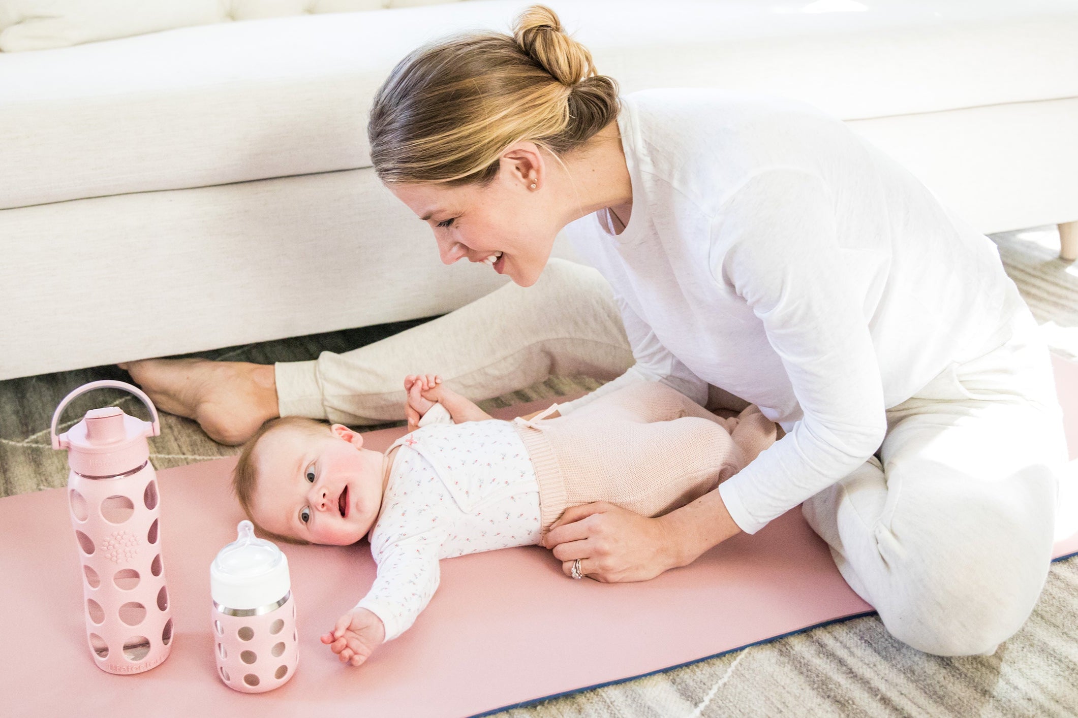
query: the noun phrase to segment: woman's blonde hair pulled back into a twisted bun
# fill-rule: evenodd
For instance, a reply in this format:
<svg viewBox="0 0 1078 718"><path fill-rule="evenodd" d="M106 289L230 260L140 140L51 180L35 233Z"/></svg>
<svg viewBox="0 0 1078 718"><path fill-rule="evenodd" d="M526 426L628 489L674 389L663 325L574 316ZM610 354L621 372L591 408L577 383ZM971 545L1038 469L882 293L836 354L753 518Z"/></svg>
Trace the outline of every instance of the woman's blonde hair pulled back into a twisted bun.
<svg viewBox="0 0 1078 718"><path fill-rule="evenodd" d="M512 36L458 33L402 59L371 108L371 161L387 184L485 186L514 142L561 161L619 109L618 83L596 74L553 10L531 5Z"/></svg>

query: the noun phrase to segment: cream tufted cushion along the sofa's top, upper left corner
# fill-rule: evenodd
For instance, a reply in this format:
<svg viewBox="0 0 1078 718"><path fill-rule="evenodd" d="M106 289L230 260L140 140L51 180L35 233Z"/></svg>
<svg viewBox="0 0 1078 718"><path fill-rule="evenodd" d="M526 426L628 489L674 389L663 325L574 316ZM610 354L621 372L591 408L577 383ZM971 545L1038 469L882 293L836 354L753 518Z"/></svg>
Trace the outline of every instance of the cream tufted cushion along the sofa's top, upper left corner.
<svg viewBox="0 0 1078 718"><path fill-rule="evenodd" d="M0 52L68 47L230 20L460 0L0 0Z"/></svg>

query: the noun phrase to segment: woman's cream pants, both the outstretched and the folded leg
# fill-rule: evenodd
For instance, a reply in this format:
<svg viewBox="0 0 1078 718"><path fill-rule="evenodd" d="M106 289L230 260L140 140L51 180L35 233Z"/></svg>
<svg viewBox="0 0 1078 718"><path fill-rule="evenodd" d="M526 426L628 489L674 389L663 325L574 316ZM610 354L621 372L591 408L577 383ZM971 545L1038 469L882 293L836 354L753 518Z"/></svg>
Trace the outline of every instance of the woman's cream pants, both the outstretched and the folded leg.
<svg viewBox="0 0 1078 718"><path fill-rule="evenodd" d="M881 459L802 506L888 631L930 653L994 652L1047 577L1065 439L1047 348L1028 311L1014 322L1007 344L888 409ZM550 374L613 379L632 364L606 281L552 259L531 287L509 283L355 351L277 364L276 378L281 416L371 424L404 418L406 374L439 372L479 400ZM745 406L717 389L708 400Z"/></svg>

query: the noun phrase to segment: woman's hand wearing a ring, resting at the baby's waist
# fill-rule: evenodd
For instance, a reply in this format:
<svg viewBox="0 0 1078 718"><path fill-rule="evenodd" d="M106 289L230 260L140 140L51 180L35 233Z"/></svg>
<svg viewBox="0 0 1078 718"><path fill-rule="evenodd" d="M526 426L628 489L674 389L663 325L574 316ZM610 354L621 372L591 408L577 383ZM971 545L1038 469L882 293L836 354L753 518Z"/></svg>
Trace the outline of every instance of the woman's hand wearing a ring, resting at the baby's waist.
<svg viewBox="0 0 1078 718"><path fill-rule="evenodd" d="M646 581L680 565L676 537L663 517L651 519L607 502L566 509L543 546L553 549L566 576L580 559L580 573L604 583Z"/></svg>

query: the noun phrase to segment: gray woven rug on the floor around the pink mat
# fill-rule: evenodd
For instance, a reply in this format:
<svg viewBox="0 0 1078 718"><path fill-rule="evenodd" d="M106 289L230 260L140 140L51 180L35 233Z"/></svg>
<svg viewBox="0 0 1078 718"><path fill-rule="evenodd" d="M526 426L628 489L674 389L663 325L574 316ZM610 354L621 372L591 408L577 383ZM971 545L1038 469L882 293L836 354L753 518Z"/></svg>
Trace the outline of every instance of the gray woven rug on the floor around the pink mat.
<svg viewBox="0 0 1078 718"><path fill-rule="evenodd" d="M1054 229L1008 233L993 239L1053 350L1078 358L1078 265L1067 266L1055 258L1059 240ZM416 323L348 329L196 355L262 363L308 360L323 350L343 352L377 341ZM52 412L72 389L97 379L129 381L127 374L115 367L96 367L0 382L0 495L64 485L66 454L49 446ZM596 386L598 382L589 378L552 377L482 406L510 406ZM112 402L119 402L129 413L144 414L129 395L100 391L77 399L65 412L63 427L78 421L87 409ZM162 435L153 439L151 454L158 469L218 459L238 450L213 442L192 421L170 414L162 414L161 419ZM588 647L566 646L565 650L586 651ZM1076 665L1078 559L1069 559L1052 565L1033 616L991 657L938 658L921 653L892 638L873 616L497 715L1075 716Z"/></svg>

